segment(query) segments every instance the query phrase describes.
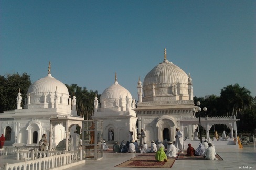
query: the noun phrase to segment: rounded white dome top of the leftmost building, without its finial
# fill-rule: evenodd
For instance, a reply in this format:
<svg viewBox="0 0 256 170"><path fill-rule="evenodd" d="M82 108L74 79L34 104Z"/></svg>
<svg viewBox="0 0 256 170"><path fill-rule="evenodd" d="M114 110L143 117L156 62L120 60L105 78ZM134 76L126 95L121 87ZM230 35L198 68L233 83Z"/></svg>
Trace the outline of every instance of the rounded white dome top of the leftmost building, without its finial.
<svg viewBox="0 0 256 170"><path fill-rule="evenodd" d="M47 77L41 78L38 81L31 84L28 88L28 94L40 92L54 93L56 91L56 88L58 93L69 94L66 85L52 77L49 73Z"/></svg>

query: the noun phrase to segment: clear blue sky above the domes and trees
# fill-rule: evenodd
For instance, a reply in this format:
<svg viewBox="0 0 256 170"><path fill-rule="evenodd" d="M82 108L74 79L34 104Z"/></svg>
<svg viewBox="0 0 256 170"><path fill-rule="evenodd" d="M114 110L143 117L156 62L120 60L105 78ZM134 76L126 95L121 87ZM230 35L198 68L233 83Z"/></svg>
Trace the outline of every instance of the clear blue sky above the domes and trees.
<svg viewBox="0 0 256 170"><path fill-rule="evenodd" d="M167 59L194 96L239 83L256 96L256 1L0 1L0 75L52 76L88 90L137 81Z"/></svg>

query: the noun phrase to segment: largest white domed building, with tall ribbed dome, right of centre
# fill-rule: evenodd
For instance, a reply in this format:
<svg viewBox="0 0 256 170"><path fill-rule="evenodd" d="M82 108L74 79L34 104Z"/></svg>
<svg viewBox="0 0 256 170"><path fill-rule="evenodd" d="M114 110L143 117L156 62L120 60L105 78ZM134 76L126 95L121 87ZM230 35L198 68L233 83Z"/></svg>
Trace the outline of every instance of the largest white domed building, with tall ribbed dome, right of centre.
<svg viewBox="0 0 256 170"><path fill-rule="evenodd" d="M190 74L169 62L164 52L164 61L156 65L138 81L138 103L136 111L138 129L144 128L145 140L175 140L176 128L181 117L193 117L193 87ZM184 137L192 140L194 125L180 129Z"/></svg>

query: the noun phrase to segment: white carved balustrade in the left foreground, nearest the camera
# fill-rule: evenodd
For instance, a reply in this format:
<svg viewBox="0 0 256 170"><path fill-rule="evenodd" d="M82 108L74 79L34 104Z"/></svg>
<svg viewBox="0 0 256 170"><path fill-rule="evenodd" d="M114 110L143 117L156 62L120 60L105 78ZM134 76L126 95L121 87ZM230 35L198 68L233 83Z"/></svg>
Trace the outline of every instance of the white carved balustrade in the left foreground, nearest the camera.
<svg viewBox="0 0 256 170"><path fill-rule="evenodd" d="M71 163L71 153L54 155L49 157L40 158L37 160L25 160L24 162L8 164L4 166L4 170L12 169L50 169L57 166L62 166Z"/></svg>

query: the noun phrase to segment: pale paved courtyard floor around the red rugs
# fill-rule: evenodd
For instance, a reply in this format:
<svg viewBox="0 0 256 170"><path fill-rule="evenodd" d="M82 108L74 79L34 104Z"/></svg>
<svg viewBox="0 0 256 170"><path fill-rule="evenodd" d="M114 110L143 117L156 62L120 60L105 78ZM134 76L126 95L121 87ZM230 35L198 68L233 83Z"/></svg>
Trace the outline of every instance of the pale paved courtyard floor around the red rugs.
<svg viewBox="0 0 256 170"><path fill-rule="evenodd" d="M223 158L223 161L184 161L176 160L172 166L174 169L256 169L256 145L246 145L242 149L216 149L216 152ZM124 161L130 160L140 153L104 153L103 159L98 161L86 160L84 164L77 165L67 170L74 169L114 169L129 170L136 168L114 167ZM154 170L159 168L137 168L140 170Z"/></svg>

